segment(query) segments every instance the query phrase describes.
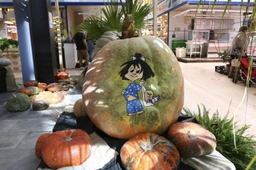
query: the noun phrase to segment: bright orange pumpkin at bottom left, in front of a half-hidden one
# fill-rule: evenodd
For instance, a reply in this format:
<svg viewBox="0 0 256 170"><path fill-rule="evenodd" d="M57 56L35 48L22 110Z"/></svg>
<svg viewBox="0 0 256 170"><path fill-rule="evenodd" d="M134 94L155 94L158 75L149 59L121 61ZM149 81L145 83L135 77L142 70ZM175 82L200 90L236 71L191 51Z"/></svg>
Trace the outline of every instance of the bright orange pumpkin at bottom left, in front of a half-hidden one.
<svg viewBox="0 0 256 170"><path fill-rule="evenodd" d="M82 164L90 156L92 140L81 129L56 131L43 143L41 153L52 169Z"/></svg>

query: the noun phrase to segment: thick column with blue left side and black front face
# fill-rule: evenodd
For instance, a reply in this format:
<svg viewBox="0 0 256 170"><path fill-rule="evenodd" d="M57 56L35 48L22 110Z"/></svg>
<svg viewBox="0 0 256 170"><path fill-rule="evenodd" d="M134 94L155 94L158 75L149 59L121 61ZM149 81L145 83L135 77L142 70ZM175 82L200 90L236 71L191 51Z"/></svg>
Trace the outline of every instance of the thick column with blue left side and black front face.
<svg viewBox="0 0 256 170"><path fill-rule="evenodd" d="M50 0L14 0L23 81L53 83L57 72Z"/></svg>

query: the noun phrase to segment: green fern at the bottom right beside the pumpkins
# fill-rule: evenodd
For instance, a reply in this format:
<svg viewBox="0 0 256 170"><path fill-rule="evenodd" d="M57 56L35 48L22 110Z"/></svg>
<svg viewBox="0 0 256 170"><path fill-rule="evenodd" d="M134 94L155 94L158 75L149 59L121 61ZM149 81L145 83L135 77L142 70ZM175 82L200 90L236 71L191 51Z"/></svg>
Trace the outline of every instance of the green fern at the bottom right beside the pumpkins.
<svg viewBox="0 0 256 170"><path fill-rule="evenodd" d="M233 119L228 119L228 114L221 118L218 110L210 115L210 110L207 110L204 105L203 109L198 105L198 113L192 113L189 109L183 108L186 115L193 116L199 124L206 127L208 131L212 132L217 141L216 150L220 152L229 161L234 163L236 169L245 169L250 163L250 160L256 155L256 141L255 136L245 134L245 131L250 126L238 126L235 123L236 131L236 146L234 148L233 141ZM256 163L251 165L252 169L256 169Z"/></svg>

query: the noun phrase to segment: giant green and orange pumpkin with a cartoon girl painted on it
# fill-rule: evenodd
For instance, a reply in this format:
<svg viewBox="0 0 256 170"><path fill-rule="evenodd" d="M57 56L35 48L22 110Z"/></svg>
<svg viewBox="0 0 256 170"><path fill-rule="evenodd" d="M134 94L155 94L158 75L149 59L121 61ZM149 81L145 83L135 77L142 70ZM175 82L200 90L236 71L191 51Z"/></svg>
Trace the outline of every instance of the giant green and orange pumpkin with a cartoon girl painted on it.
<svg viewBox="0 0 256 170"><path fill-rule="evenodd" d="M137 62L143 59L135 55L138 53L145 57L144 63L149 70L142 69L144 63L127 67L126 62L135 60L134 57L137 56ZM122 76L121 70L125 67L129 69ZM138 74L138 77L132 74ZM143 79L136 79L141 75ZM150 76L144 79L145 75ZM135 84L132 84L132 76L136 79ZM140 86L142 81L146 92ZM134 88L133 85L138 87L137 98L132 92L126 94L128 87ZM124 89L126 91L122 94ZM121 139L144 132L164 134L176 121L184 103L184 82L179 63L171 49L153 36L115 40L102 47L88 67L82 91L85 110L96 127ZM144 98L142 94L145 94ZM147 97L149 94L153 94L153 98ZM153 105L145 107L143 99L147 99L146 104ZM137 107L143 108L138 111ZM129 113L129 110L134 112Z"/></svg>

